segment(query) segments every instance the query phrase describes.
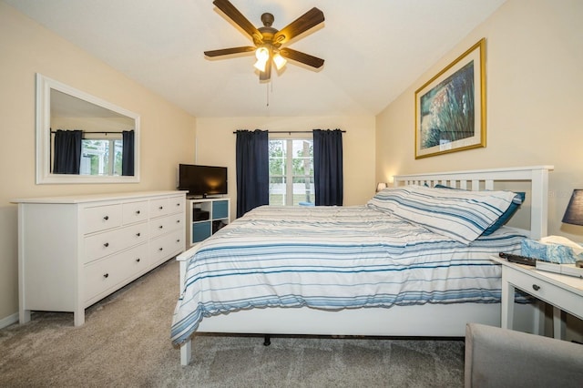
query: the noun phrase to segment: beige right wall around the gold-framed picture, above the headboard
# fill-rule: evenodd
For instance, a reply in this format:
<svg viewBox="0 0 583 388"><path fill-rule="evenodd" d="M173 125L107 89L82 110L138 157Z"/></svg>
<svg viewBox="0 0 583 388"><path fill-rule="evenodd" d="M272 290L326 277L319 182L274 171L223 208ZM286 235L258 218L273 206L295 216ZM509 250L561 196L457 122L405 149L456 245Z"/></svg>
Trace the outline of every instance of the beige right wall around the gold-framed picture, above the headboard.
<svg viewBox="0 0 583 388"><path fill-rule="evenodd" d="M470 168L554 165L549 234L583 241L561 224L583 189L583 2L508 0L376 117L376 177ZM487 147L414 158L414 92L486 37Z"/></svg>

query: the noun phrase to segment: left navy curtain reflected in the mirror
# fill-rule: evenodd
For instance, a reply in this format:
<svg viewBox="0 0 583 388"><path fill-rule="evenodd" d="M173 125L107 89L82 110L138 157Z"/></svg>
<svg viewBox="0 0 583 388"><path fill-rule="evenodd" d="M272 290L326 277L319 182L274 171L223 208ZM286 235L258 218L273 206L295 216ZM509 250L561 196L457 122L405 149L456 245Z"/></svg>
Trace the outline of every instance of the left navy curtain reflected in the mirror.
<svg viewBox="0 0 583 388"><path fill-rule="evenodd" d="M83 131L57 129L53 174L78 174L81 167Z"/></svg>

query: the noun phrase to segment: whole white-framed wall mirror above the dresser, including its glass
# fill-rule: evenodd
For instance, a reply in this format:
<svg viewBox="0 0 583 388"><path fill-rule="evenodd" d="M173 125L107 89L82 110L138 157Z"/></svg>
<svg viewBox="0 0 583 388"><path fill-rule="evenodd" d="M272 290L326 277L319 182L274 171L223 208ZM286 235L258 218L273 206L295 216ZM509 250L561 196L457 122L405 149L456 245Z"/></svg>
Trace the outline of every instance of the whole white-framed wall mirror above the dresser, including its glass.
<svg viewBox="0 0 583 388"><path fill-rule="evenodd" d="M139 116L36 74L36 184L139 182Z"/></svg>

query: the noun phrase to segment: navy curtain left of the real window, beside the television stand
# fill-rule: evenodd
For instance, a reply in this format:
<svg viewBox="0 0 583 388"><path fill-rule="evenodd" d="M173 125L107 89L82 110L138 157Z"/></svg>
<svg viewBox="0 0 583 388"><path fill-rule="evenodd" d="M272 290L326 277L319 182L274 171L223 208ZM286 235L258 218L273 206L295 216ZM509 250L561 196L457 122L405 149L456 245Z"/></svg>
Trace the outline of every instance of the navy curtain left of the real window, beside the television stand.
<svg viewBox="0 0 583 388"><path fill-rule="evenodd" d="M270 203L269 139L266 130L238 130L237 218Z"/></svg>

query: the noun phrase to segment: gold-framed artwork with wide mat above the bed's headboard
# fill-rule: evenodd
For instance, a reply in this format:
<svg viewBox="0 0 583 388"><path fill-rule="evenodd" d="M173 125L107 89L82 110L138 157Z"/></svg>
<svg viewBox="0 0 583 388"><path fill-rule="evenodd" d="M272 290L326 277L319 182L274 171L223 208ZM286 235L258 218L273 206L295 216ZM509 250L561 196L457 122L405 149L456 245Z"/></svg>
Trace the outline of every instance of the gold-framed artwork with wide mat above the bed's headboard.
<svg viewBox="0 0 583 388"><path fill-rule="evenodd" d="M486 39L415 91L415 158L486 147Z"/></svg>

